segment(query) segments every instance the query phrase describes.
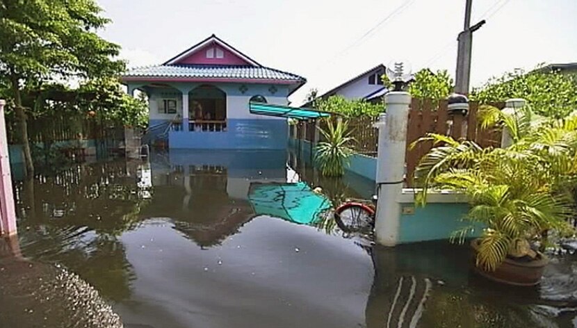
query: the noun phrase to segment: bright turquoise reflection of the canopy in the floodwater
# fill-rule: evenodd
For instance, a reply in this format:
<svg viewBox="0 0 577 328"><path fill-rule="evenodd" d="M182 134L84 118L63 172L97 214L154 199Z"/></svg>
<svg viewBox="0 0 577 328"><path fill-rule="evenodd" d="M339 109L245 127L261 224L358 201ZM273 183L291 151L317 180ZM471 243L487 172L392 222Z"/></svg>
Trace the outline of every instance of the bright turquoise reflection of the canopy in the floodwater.
<svg viewBox="0 0 577 328"><path fill-rule="evenodd" d="M298 224L314 224L330 201L304 182L270 183L253 186L248 195L257 215L270 215Z"/></svg>

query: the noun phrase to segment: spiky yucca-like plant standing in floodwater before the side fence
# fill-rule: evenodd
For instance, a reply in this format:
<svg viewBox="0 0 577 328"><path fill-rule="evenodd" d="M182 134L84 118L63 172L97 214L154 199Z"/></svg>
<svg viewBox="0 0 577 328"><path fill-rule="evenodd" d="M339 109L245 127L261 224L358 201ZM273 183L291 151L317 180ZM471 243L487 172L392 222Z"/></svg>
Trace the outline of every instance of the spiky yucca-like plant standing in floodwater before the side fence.
<svg viewBox="0 0 577 328"><path fill-rule="evenodd" d="M354 153L350 148L354 138L350 136L347 121L326 122L326 129L318 128L325 140L316 145L315 161L323 176L341 177L345 174L345 165L349 165L350 156Z"/></svg>

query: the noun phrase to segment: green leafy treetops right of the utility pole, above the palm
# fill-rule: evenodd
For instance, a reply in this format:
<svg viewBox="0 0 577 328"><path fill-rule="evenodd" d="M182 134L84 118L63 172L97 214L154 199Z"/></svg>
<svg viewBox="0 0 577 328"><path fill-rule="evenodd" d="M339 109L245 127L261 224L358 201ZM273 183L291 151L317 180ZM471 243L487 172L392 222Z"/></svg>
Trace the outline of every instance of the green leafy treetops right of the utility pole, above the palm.
<svg viewBox="0 0 577 328"><path fill-rule="evenodd" d="M516 69L489 80L473 89L471 99L487 104L523 98L535 108L535 113L562 118L577 109L577 81L574 76L536 69L524 72Z"/></svg>

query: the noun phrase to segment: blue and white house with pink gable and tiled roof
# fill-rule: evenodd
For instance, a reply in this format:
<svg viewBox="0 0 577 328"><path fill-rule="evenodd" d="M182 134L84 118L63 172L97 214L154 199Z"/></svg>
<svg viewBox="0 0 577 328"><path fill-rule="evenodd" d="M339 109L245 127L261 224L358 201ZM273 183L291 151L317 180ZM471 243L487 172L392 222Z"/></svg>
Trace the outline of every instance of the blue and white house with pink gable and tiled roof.
<svg viewBox="0 0 577 328"><path fill-rule="evenodd" d="M249 102L288 104L306 80L265 67L216 35L162 65L130 69L122 83L149 99L150 138L170 148L284 149L286 117L250 113Z"/></svg>

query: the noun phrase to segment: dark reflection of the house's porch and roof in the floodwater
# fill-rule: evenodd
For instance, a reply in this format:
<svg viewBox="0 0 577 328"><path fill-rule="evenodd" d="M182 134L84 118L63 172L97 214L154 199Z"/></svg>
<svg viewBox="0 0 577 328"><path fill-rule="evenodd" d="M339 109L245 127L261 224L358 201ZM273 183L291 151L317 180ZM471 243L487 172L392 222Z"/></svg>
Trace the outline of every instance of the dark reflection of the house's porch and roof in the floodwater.
<svg viewBox="0 0 577 328"><path fill-rule="evenodd" d="M254 215L246 200L229 197L225 167L176 167L163 182L140 216L171 218L174 229L201 247L220 245Z"/></svg>

